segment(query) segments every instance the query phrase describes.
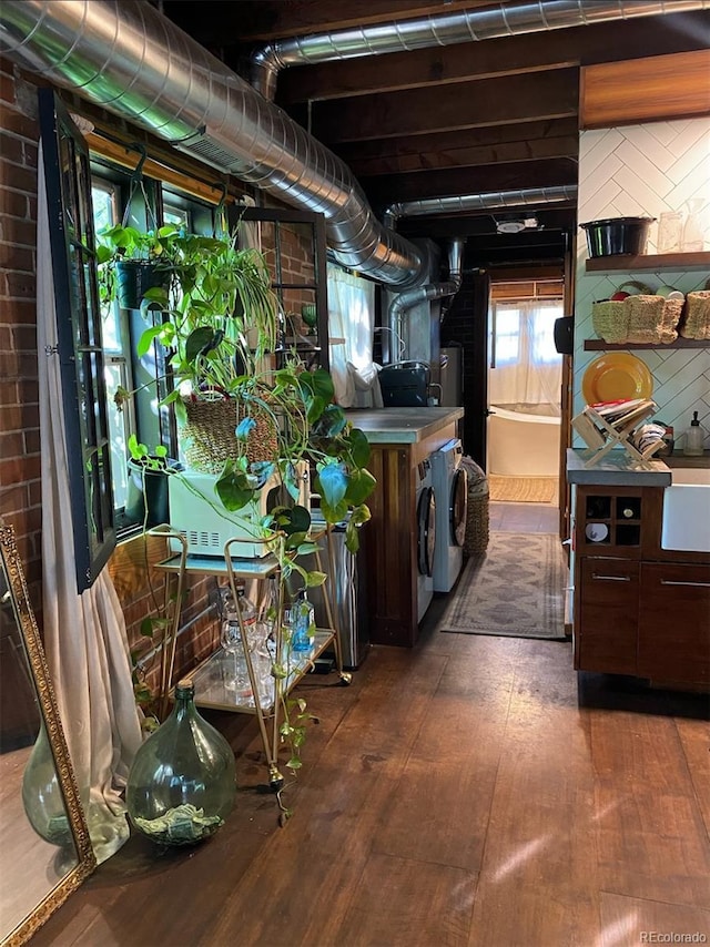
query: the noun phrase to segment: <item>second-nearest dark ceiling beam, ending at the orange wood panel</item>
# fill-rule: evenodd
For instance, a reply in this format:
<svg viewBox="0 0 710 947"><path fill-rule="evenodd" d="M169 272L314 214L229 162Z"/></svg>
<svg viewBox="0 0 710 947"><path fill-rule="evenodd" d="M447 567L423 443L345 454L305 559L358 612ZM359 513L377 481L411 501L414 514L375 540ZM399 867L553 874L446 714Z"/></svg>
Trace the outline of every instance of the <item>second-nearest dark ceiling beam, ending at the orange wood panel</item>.
<svg viewBox="0 0 710 947"><path fill-rule="evenodd" d="M410 89L374 95L366 108L358 96L321 102L312 112L318 141L383 139L432 134L453 129L511 124L577 114L579 71L559 69L532 75L508 75L438 89Z"/></svg>

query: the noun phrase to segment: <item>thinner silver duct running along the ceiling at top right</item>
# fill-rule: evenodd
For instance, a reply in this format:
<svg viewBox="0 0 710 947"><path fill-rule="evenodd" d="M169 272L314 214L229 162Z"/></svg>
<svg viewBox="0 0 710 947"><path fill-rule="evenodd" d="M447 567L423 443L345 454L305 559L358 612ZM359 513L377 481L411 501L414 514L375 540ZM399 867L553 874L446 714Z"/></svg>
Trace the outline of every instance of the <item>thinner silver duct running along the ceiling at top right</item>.
<svg viewBox="0 0 710 947"><path fill-rule="evenodd" d="M312 65L316 62L406 52L470 40L584 27L607 20L630 20L633 17L704 9L710 9L710 0L520 0L496 3L483 10L460 10L418 20L376 23L280 40L254 53L252 84L273 100L278 72L290 65Z"/></svg>

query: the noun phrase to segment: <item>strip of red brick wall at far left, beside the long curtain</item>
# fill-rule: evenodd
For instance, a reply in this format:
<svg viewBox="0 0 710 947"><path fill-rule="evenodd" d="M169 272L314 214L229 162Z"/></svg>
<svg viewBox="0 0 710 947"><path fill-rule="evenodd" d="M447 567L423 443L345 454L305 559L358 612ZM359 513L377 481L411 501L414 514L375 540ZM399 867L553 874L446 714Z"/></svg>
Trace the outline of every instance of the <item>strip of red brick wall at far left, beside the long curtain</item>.
<svg viewBox="0 0 710 947"><path fill-rule="evenodd" d="M37 369L37 88L0 57L0 515L41 605Z"/></svg>

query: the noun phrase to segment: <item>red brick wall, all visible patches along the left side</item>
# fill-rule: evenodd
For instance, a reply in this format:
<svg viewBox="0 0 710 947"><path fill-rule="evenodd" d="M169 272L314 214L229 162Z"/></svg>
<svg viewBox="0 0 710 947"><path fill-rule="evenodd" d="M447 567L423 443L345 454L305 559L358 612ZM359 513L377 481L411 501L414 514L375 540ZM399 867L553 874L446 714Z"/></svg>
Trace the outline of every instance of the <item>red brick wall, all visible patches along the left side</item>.
<svg viewBox="0 0 710 947"><path fill-rule="evenodd" d="M37 86L0 57L0 515L12 525L30 584L30 601L41 629L41 483L37 353L37 155L39 122ZM273 240L273 234L271 235ZM268 234L265 234L266 241ZM311 276L297 231L285 228L283 278L290 271ZM308 269L311 267L311 269ZM294 298L295 312L304 302ZM303 327L305 329L305 327ZM153 542L145 553L139 537L116 548L109 563L123 609L129 645L144 659L146 683L159 681L163 629L153 640L142 634L149 615L162 614L165 573L154 568L164 549ZM211 608L216 580L187 578L175 658L175 678L210 654L219 642L219 622ZM169 590L170 594L170 590Z"/></svg>

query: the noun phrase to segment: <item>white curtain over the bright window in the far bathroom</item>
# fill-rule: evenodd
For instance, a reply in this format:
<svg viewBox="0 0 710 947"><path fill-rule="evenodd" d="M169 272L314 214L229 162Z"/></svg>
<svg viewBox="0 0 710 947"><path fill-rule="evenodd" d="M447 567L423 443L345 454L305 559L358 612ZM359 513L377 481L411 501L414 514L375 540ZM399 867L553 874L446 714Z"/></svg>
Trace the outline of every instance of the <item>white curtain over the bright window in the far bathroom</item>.
<svg viewBox="0 0 710 947"><path fill-rule="evenodd" d="M561 299L496 301L488 339L488 400L516 410L561 410L562 356L555 349Z"/></svg>

